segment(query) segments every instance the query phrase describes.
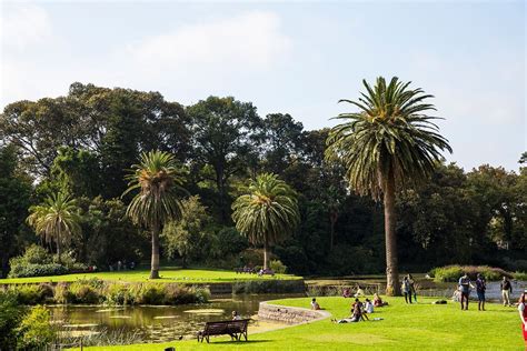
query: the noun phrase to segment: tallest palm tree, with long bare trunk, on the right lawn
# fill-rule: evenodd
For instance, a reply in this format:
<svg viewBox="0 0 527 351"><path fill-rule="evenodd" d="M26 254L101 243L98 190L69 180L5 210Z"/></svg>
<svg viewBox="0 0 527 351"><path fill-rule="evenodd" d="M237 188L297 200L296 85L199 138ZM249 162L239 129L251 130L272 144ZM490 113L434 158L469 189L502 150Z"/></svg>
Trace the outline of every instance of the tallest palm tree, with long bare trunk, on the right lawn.
<svg viewBox="0 0 527 351"><path fill-rule="evenodd" d="M422 89L410 89L411 82L394 77L389 84L377 78L375 88L362 81L367 93L358 101L340 100L359 109L342 113L327 139L326 157L340 159L349 185L359 194L375 200L382 195L385 208L387 293L400 294L395 195L397 187L421 182L443 159L440 150L451 152L448 140L432 122L437 117L425 114L436 110L425 102L432 98Z"/></svg>

